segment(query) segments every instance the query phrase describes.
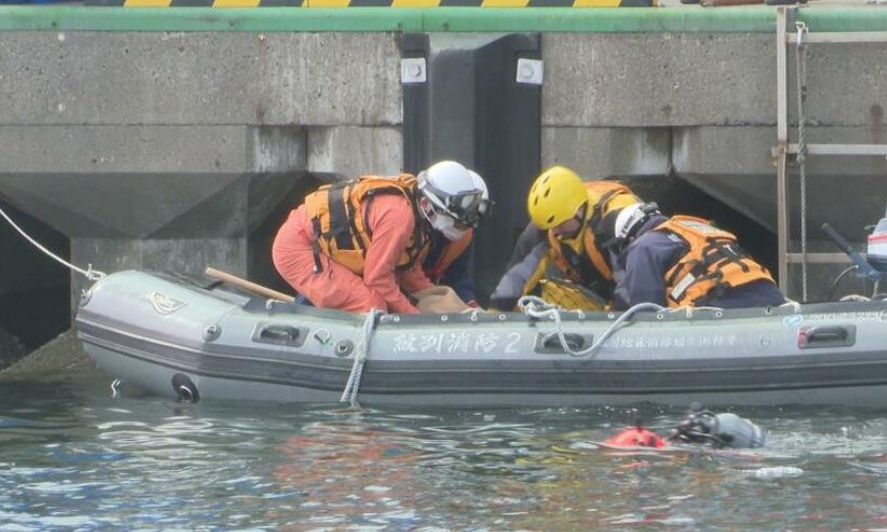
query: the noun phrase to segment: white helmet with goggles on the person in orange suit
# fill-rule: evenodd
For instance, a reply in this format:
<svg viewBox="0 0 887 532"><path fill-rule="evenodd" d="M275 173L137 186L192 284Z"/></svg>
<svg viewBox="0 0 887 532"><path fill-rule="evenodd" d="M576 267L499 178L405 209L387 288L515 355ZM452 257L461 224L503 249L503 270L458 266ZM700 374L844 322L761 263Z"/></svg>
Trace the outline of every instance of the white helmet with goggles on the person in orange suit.
<svg viewBox="0 0 887 532"><path fill-rule="evenodd" d="M455 161L436 163L417 177L419 191L436 212L476 227L489 210L483 178Z"/></svg>

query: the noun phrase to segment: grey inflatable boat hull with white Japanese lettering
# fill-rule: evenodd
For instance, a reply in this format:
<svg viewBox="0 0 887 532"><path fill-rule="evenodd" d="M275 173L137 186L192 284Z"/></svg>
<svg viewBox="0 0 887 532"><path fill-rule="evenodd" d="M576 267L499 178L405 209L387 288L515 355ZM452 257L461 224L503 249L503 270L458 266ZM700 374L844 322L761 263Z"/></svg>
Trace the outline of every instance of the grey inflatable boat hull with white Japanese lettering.
<svg viewBox="0 0 887 532"><path fill-rule="evenodd" d="M618 314L562 318L579 350ZM339 401L364 321L138 271L95 283L76 319L87 353L124 385L280 402ZM358 398L470 407L887 406L881 301L642 312L586 356L566 353L553 331L553 321L512 313L383 315L369 336Z"/></svg>

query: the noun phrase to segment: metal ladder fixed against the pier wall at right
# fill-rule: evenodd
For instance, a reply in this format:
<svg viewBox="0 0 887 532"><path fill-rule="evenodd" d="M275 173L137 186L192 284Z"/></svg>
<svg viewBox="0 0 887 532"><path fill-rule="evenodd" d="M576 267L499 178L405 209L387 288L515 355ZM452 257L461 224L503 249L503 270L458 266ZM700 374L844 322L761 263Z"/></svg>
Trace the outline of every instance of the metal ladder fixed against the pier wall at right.
<svg viewBox="0 0 887 532"><path fill-rule="evenodd" d="M776 158L776 209L777 245L779 246L779 288L788 295L789 263L835 264L848 263L845 253L791 253L789 242L789 209L786 181L786 160L789 155L798 155L799 144L788 139L788 45L800 46L810 43L871 43L887 42L887 32L818 32L812 33L803 22L795 22L800 9L796 6L779 7L776 11L776 66L777 66L777 144L773 149ZM795 23L795 31L789 24ZM798 95L800 97L800 95ZM881 155L887 156L884 144L805 144L805 155ZM806 199L802 199L806 201ZM806 292L806 285L804 287ZM807 299L807 294L802 294Z"/></svg>

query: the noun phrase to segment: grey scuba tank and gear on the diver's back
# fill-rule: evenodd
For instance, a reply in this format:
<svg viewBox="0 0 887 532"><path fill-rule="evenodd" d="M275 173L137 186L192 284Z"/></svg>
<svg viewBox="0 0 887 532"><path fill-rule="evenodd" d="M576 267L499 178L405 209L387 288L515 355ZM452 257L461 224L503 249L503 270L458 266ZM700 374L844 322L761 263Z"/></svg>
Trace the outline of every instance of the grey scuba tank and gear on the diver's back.
<svg viewBox="0 0 887 532"><path fill-rule="evenodd" d="M690 413L672 430L668 439L684 443L710 443L716 448L747 449L763 447L767 443L767 433L736 414L715 414L699 403L693 403Z"/></svg>

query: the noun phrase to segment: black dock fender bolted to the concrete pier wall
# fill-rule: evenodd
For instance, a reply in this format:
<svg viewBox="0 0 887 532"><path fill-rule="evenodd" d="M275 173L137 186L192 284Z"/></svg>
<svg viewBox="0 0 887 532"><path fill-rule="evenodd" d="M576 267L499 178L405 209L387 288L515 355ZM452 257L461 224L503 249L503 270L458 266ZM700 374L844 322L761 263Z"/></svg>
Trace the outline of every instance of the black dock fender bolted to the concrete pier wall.
<svg viewBox="0 0 887 532"><path fill-rule="evenodd" d="M474 233L470 265L484 303L527 225L526 194L542 164L542 36L405 33L401 54L404 168L459 161L496 202Z"/></svg>

